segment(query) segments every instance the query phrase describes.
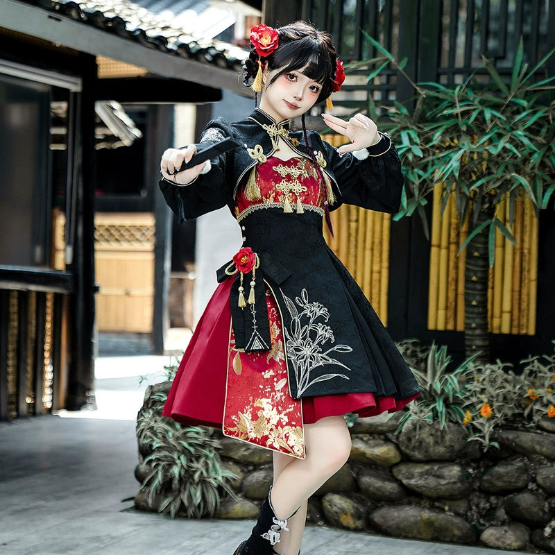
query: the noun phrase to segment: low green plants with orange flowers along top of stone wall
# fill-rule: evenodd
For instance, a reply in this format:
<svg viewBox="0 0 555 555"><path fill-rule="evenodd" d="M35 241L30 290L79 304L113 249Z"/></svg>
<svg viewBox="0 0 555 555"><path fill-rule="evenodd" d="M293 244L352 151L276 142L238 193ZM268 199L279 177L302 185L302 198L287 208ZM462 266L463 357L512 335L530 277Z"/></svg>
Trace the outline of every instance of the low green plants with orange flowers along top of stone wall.
<svg viewBox="0 0 555 555"><path fill-rule="evenodd" d="M409 340L398 347L422 388L420 398L402 416L398 432L408 420L417 423L416 434L424 423L444 427L456 422L466 427L469 441L478 441L486 451L499 447L496 438L502 429L555 419L555 353L525 359L519 371L501 361L477 364L473 357L450 371L445 346L427 349Z"/></svg>

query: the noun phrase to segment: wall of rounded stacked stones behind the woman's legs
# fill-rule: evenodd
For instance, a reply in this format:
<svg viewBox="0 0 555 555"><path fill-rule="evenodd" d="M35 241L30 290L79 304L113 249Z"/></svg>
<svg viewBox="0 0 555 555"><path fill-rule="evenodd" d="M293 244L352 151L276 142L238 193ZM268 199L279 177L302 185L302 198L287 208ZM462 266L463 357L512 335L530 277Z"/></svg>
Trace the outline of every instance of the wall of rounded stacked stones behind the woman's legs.
<svg viewBox="0 0 555 555"><path fill-rule="evenodd" d="M507 430L487 454L461 425L440 430L359 418L350 460L309 501L311 524L445 543L555 553L555 422ZM552 419L555 420L555 419ZM221 437L238 500L219 518L255 518L272 480L271 452Z"/></svg>

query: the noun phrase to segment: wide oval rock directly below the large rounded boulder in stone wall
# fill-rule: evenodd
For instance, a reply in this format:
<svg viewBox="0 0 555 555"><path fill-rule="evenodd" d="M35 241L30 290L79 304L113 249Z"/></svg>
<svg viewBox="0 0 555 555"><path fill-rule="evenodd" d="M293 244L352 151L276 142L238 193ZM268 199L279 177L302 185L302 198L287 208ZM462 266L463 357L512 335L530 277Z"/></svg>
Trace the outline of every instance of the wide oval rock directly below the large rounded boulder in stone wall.
<svg viewBox="0 0 555 555"><path fill-rule="evenodd" d="M393 476L427 497L461 499L472 489L470 474L459 464L400 463L393 468Z"/></svg>

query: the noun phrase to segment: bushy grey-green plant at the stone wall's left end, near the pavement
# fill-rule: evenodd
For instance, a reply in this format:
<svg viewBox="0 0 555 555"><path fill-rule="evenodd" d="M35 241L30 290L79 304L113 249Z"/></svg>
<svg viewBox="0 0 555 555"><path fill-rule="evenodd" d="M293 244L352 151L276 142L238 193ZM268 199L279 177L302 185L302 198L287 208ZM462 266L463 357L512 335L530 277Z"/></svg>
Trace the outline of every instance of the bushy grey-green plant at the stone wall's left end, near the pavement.
<svg viewBox="0 0 555 555"><path fill-rule="evenodd" d="M159 512L175 518L213 516L225 493L234 495L229 481L232 472L225 470L218 453L219 442L213 430L187 427L162 416L167 395L151 395L148 408L137 418L139 445L151 450L143 463L151 468L142 484L152 502L156 495L164 498Z"/></svg>

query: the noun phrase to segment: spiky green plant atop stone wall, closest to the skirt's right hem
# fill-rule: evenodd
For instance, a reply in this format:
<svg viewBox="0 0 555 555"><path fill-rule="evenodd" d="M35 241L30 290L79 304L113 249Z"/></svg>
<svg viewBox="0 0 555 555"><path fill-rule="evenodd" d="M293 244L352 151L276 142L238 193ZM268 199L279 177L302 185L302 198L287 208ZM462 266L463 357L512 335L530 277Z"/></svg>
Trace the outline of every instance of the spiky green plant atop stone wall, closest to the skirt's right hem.
<svg viewBox="0 0 555 555"><path fill-rule="evenodd" d="M466 391L461 378L466 375L474 359L475 356L470 357L454 370L448 370L452 357L447 355L447 347L438 347L432 343L427 350L425 367L413 368L421 393L401 418L398 431L411 419L438 422L441 429L447 422L462 422Z"/></svg>

